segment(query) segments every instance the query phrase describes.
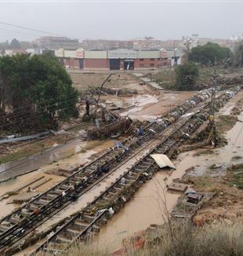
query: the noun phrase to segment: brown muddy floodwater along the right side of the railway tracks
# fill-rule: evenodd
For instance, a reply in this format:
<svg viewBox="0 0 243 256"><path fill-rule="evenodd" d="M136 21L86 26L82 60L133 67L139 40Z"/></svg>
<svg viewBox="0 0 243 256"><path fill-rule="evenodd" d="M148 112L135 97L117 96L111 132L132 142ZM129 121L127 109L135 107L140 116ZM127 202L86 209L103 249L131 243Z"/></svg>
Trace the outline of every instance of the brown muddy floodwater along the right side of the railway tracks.
<svg viewBox="0 0 243 256"><path fill-rule="evenodd" d="M235 102L241 97L242 93L239 93L237 97L226 104L219 115L229 114L229 109L232 109ZM243 121L243 112L238 118ZM226 137L228 144L223 148L216 149L215 154L194 156L195 151L186 152L180 154L174 161L176 170L170 173L161 170L155 174L151 181L143 185L136 192L136 196L118 214L114 215L107 226L101 229L100 235L96 237L94 243L101 248L109 248L114 251L121 247L122 239L126 236L147 229L151 224L163 224L165 213L172 210L180 196L180 193L168 192L166 184L175 178L181 178L191 166L195 166L195 175L207 174L209 166L213 163L227 166L232 163L232 157L236 155L243 157L243 124L236 123L233 129L227 132ZM218 175L220 174L218 173Z"/></svg>

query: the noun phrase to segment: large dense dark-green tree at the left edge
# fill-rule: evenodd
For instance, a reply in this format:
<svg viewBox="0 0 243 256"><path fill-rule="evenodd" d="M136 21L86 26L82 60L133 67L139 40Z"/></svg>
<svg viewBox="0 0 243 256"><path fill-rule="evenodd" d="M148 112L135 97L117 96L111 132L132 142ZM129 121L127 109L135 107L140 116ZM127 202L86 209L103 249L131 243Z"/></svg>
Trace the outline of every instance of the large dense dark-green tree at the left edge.
<svg viewBox="0 0 243 256"><path fill-rule="evenodd" d="M2 112L12 109L21 114L24 107L24 118L34 115L43 126L78 115L78 92L67 71L49 54L0 57L0 92Z"/></svg>

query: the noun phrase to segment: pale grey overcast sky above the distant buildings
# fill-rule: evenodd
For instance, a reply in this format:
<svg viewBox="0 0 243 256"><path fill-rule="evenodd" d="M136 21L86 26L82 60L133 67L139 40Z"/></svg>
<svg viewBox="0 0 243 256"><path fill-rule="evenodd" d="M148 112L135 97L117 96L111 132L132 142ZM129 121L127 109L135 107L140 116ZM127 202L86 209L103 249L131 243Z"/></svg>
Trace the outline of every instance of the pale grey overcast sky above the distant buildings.
<svg viewBox="0 0 243 256"><path fill-rule="evenodd" d="M199 34L230 38L243 34L243 2L2 2L0 23L49 31L70 38L159 39ZM26 34L24 34L26 33ZM43 35L0 24L0 41Z"/></svg>

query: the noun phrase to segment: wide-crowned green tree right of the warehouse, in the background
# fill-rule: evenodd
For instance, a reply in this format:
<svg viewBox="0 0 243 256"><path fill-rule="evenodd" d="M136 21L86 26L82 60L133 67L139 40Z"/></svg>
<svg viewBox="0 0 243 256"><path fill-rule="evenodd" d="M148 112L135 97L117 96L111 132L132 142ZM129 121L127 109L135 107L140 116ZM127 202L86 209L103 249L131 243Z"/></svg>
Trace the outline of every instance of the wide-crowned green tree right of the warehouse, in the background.
<svg viewBox="0 0 243 256"><path fill-rule="evenodd" d="M229 58L230 49L212 42L208 42L205 46L196 46L189 53L190 61L207 66L221 64Z"/></svg>

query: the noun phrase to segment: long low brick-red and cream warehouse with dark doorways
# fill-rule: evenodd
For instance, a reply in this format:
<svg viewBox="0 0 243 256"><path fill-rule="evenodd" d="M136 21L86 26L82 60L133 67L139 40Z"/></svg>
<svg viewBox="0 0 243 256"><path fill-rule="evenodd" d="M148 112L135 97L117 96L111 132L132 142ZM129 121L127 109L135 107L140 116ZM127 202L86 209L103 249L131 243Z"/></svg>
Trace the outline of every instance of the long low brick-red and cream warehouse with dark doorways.
<svg viewBox="0 0 243 256"><path fill-rule="evenodd" d="M74 50L55 49L53 54L65 68L133 70L158 69L180 64L182 52L179 49L160 50Z"/></svg>

